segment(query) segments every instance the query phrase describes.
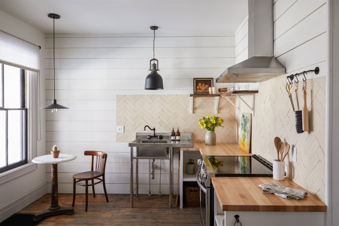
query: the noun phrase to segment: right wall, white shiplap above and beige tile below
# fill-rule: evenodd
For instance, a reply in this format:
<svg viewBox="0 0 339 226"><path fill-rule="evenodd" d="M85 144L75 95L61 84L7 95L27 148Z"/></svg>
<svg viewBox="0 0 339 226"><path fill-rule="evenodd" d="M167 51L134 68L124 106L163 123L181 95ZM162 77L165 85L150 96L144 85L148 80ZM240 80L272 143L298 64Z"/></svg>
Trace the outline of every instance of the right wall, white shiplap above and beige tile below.
<svg viewBox="0 0 339 226"><path fill-rule="evenodd" d="M325 90L327 79L327 16L326 0L277 0L274 4L274 56L286 67L286 74L259 83L252 123L252 153L269 161L276 158L274 137L278 136L297 148L297 162L291 154L285 160L290 166L290 178L325 201ZM307 106L309 132L297 134L295 115L285 90L286 76L304 70L320 68L320 73L308 73ZM300 78L301 80L301 78ZM302 82L298 86L296 109L303 107ZM248 103L252 99L245 97ZM241 104L241 112L251 112ZM241 113L240 112L240 113ZM239 118L238 118L239 119Z"/></svg>

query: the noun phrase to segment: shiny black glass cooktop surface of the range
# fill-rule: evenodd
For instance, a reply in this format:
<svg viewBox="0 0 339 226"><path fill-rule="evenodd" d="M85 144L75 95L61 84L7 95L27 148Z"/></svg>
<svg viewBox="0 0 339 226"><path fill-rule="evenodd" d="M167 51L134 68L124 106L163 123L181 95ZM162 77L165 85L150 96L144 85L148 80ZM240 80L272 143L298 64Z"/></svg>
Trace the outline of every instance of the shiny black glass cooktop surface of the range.
<svg viewBox="0 0 339 226"><path fill-rule="evenodd" d="M215 176L273 176L272 164L257 155L208 156Z"/></svg>

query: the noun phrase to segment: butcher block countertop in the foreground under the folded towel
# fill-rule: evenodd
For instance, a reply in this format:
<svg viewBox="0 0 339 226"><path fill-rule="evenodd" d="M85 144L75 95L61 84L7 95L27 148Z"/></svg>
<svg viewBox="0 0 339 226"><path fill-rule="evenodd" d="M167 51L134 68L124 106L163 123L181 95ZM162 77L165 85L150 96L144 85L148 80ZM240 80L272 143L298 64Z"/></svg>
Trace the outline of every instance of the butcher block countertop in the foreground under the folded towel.
<svg viewBox="0 0 339 226"><path fill-rule="evenodd" d="M289 179L278 181L272 177L212 178L223 211L326 212L326 205L309 193L301 200L285 199L264 193L258 185L268 182L305 190Z"/></svg>

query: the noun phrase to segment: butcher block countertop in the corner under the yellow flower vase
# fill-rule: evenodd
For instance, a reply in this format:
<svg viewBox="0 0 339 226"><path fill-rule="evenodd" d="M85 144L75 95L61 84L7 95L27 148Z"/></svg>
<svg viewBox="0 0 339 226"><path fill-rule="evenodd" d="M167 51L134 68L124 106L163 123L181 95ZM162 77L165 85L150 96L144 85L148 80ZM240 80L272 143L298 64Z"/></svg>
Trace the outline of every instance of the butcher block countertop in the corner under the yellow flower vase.
<svg viewBox="0 0 339 226"><path fill-rule="evenodd" d="M193 148L181 148L181 151L200 151L202 155L208 156L252 156L239 148L237 143L216 143L216 145L205 145L204 142L194 142Z"/></svg>

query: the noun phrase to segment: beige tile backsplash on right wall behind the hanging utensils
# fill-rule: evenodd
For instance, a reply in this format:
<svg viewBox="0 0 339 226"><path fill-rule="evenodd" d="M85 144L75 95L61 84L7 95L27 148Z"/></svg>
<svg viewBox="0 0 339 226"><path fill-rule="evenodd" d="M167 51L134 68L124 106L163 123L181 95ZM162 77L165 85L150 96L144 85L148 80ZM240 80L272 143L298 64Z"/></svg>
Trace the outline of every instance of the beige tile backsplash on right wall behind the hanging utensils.
<svg viewBox="0 0 339 226"><path fill-rule="evenodd" d="M295 115L285 89L286 76L282 75L259 83L255 96L255 116L252 122L252 153L272 162L276 159L274 137L280 137L297 148L297 162L288 159L289 177L311 194L325 201L325 88L326 77L307 80L307 107L309 131L297 134ZM295 110L303 108L302 82L298 85L298 98L294 92ZM250 105L251 97L244 97ZM299 103L299 106L298 106ZM241 104L241 112L251 112ZM240 117L237 117L239 121Z"/></svg>

